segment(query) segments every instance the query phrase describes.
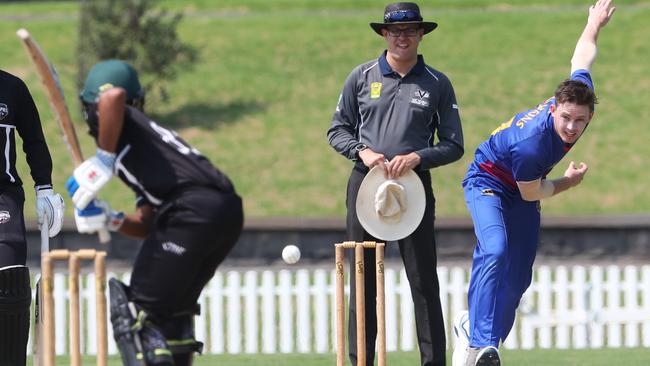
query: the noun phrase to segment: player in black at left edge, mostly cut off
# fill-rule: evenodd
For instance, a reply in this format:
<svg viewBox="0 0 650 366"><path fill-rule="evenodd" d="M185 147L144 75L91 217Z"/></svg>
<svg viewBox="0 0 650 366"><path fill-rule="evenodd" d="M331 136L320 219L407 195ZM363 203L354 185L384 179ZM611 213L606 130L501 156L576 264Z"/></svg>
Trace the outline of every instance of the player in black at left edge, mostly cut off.
<svg viewBox="0 0 650 366"><path fill-rule="evenodd" d="M36 189L38 223L54 237L63 224L63 199L52 190L52 158L27 86L0 70L0 365L25 365L32 291L25 266L25 192L16 171L16 132L23 140ZM47 219L47 222L43 222Z"/></svg>

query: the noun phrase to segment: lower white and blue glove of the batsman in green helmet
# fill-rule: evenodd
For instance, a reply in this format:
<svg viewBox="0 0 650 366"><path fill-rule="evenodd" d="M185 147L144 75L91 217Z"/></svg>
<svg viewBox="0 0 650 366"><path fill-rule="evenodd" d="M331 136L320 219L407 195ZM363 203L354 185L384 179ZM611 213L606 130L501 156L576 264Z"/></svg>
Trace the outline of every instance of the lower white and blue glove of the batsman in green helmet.
<svg viewBox="0 0 650 366"><path fill-rule="evenodd" d="M74 219L78 232L94 234L106 229L119 230L124 222L124 213L111 210L105 201L92 200L83 210L75 210Z"/></svg>

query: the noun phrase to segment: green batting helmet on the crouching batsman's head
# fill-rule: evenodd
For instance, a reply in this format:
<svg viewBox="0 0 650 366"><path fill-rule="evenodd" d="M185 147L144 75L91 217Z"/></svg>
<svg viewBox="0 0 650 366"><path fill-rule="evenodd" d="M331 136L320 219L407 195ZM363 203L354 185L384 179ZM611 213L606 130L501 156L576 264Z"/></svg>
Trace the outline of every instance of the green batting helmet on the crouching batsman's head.
<svg viewBox="0 0 650 366"><path fill-rule="evenodd" d="M85 103L97 103L104 90L115 86L126 90L127 103L144 97L138 72L131 65L121 60L106 60L90 69L79 98Z"/></svg>

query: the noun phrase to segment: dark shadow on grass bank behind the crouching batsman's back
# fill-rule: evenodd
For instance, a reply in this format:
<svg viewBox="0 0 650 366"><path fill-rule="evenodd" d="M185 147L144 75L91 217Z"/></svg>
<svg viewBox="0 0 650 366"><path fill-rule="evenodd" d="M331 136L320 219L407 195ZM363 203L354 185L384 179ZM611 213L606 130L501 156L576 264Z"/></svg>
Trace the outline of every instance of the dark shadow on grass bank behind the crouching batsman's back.
<svg viewBox="0 0 650 366"><path fill-rule="evenodd" d="M213 130L231 124L248 114L262 112L266 106L257 101L234 101L231 103L186 104L169 113L154 113L151 117L172 129L197 127Z"/></svg>

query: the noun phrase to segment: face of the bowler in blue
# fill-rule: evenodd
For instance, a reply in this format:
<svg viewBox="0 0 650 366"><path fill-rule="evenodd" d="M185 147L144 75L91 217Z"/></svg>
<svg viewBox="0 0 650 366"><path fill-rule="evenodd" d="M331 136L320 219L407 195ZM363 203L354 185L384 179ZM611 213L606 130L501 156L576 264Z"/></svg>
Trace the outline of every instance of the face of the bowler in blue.
<svg viewBox="0 0 650 366"><path fill-rule="evenodd" d="M553 122L555 131L562 141L568 144L578 140L593 117L589 106L568 102L558 104L555 108L551 107L551 113L555 119Z"/></svg>

